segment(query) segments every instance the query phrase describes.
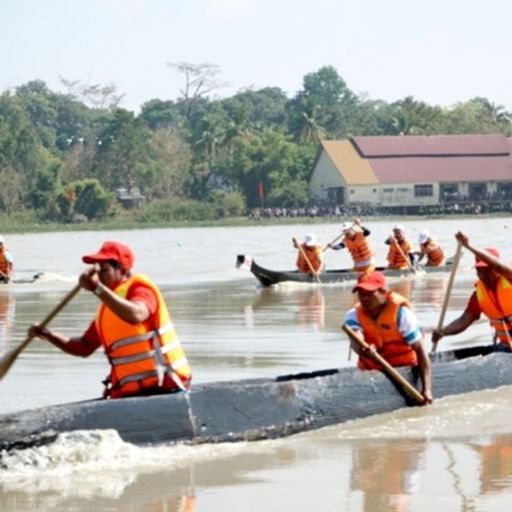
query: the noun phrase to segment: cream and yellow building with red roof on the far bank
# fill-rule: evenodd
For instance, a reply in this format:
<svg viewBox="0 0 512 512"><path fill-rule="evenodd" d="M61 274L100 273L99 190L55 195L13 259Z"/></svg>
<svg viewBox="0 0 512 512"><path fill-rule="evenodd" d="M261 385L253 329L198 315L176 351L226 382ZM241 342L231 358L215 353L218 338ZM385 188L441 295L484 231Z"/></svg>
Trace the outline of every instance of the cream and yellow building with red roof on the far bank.
<svg viewBox="0 0 512 512"><path fill-rule="evenodd" d="M401 135L322 141L311 197L337 205L428 207L512 199L504 135Z"/></svg>

